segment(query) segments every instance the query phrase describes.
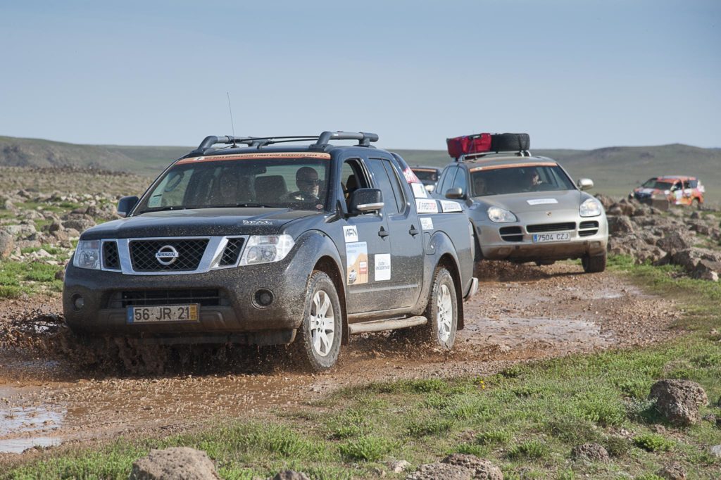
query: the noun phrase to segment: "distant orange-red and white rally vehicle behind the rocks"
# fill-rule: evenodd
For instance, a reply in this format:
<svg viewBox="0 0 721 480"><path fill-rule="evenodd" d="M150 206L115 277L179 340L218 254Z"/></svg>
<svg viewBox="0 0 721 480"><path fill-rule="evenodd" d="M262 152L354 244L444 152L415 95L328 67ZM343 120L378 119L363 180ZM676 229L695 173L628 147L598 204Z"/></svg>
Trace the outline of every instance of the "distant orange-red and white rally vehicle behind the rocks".
<svg viewBox="0 0 721 480"><path fill-rule="evenodd" d="M694 205L704 203L706 189L696 177L667 175L648 179L640 187L634 188L629 197L642 203L653 203L654 200L668 200L671 205Z"/></svg>

